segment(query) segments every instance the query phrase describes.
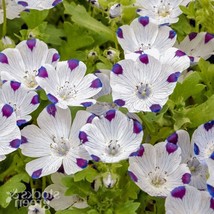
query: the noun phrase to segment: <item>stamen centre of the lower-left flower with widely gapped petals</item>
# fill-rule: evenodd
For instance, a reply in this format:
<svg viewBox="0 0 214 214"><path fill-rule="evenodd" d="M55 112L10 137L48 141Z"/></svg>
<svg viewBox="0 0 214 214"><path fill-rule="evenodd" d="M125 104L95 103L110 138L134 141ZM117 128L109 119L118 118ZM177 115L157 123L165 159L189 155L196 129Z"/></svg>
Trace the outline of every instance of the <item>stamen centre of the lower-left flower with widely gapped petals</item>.
<svg viewBox="0 0 214 214"><path fill-rule="evenodd" d="M70 143L69 140L64 137L58 138L54 136L50 147L54 155L63 157L69 152Z"/></svg>

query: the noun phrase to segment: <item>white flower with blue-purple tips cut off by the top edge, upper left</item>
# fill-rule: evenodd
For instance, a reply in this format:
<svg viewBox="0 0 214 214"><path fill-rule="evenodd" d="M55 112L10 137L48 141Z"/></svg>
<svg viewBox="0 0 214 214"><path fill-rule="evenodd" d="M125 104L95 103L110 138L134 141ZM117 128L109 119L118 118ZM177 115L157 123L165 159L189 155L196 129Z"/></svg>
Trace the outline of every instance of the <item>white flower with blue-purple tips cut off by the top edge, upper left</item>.
<svg viewBox="0 0 214 214"><path fill-rule="evenodd" d="M63 0L15 0L26 9L47 10L55 7Z"/></svg>

